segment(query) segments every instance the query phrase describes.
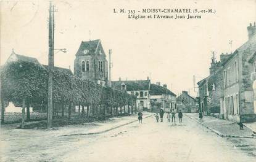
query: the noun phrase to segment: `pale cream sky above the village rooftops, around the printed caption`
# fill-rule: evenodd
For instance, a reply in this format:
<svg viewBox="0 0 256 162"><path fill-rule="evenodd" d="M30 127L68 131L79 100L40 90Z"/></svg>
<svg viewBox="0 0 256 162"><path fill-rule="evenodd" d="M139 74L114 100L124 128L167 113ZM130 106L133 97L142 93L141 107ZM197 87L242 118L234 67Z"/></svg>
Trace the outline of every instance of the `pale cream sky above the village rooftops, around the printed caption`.
<svg viewBox="0 0 256 162"><path fill-rule="evenodd" d="M49 2L1 1L1 64L15 53L47 64ZM247 41L249 23L256 21L256 1L54 1L55 66L71 67L81 41L101 39L105 53L113 50L112 80L146 79L167 83L176 95L209 75L211 51L233 51ZM131 20L115 9L215 9L197 20ZM185 14L187 15L187 14ZM107 55L108 58L109 55Z"/></svg>

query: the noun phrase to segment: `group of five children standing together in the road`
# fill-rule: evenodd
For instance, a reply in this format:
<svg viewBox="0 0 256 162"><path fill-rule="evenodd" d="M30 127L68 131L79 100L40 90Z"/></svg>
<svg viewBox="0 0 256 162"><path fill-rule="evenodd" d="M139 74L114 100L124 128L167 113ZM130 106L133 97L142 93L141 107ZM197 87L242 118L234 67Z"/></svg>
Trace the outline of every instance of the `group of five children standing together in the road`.
<svg viewBox="0 0 256 162"><path fill-rule="evenodd" d="M160 112L159 112L160 122L163 122L163 114L164 114L163 109L160 109ZM157 120L157 122L159 122L159 115L158 115L158 113L155 114L155 119ZM176 112L174 109L172 109L171 113L168 112L168 114L167 114L167 122L169 123L169 122L174 121L176 123L175 116L176 116ZM179 110L179 112L178 112L178 117L179 117L180 123L182 123L183 114L182 114L181 110ZM171 121L170 121L170 119L171 119Z"/></svg>

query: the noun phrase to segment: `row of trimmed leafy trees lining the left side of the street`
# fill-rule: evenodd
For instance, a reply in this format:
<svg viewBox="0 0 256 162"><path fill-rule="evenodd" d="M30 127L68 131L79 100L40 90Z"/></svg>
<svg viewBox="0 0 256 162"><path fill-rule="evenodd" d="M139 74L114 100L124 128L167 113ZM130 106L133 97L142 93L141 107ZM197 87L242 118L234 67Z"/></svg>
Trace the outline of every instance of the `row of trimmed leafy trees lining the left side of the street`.
<svg viewBox="0 0 256 162"><path fill-rule="evenodd" d="M13 102L15 106L23 107L24 115L26 106L36 107L42 102L47 103L47 71L47 66L27 61L15 61L2 67L2 107L6 106L4 103ZM72 105L93 108L103 106L104 109L105 107L112 109L125 105L132 106L136 101L136 96L110 87L102 87L90 80L80 79L60 68L54 68L53 82L53 101L63 105L62 114L64 114L64 106L68 105L68 117L71 115Z"/></svg>

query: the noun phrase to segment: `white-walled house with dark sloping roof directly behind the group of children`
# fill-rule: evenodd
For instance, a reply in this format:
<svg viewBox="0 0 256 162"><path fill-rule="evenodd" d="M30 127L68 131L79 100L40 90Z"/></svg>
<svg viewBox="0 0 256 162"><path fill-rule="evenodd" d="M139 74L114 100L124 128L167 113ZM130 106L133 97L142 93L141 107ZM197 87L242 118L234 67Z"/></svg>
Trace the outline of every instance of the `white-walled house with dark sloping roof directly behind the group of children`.
<svg viewBox="0 0 256 162"><path fill-rule="evenodd" d="M176 110L176 95L168 90L167 85L160 85L160 82L151 84L150 90L150 103L151 112L159 112L163 108L165 112L171 112L172 109Z"/></svg>

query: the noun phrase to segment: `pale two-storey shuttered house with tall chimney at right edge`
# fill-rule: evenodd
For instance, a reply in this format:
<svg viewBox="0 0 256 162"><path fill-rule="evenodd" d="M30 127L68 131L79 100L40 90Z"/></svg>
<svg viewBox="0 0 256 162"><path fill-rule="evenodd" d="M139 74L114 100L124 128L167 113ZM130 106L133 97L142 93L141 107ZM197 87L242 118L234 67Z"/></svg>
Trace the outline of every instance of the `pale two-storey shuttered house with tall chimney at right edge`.
<svg viewBox="0 0 256 162"><path fill-rule="evenodd" d="M224 91L221 105L224 118L234 122L256 120L254 108L254 74L256 52L256 25L247 27L248 41L237 48L223 62Z"/></svg>

